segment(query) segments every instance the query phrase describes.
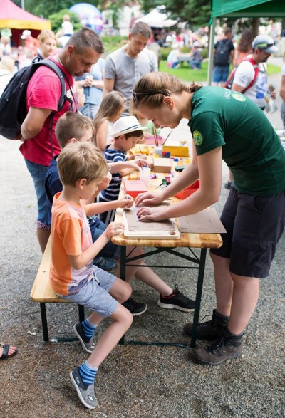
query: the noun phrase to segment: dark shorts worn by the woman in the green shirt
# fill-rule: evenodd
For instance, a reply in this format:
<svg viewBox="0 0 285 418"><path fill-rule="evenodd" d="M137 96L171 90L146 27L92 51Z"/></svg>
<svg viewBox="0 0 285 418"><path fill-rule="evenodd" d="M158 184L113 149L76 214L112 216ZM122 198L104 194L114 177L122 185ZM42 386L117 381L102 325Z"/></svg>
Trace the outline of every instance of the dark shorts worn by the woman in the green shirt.
<svg viewBox="0 0 285 418"><path fill-rule="evenodd" d="M229 271L238 276L267 277L285 224L285 192L252 196L232 186L221 216L227 234L212 254L230 258Z"/></svg>

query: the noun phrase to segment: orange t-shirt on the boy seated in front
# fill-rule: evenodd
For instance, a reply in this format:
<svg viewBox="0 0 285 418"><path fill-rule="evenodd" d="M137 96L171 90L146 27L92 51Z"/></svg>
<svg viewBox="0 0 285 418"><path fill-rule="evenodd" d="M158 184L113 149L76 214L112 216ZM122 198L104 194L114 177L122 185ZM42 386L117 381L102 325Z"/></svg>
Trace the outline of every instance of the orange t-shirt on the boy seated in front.
<svg viewBox="0 0 285 418"><path fill-rule="evenodd" d="M86 218L86 205L58 201L53 197L51 217L51 288L59 295L77 293L93 278L93 261L80 270L71 266L68 256L78 256L92 244Z"/></svg>

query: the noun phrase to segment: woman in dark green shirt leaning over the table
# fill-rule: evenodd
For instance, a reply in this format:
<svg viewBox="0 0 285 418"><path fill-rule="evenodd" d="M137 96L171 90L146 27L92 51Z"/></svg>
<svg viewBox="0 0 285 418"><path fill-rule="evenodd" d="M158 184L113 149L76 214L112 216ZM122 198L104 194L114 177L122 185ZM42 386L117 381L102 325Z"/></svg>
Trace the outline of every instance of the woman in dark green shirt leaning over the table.
<svg viewBox="0 0 285 418"><path fill-rule="evenodd" d="M221 216L224 244L211 249L217 308L198 325L197 338L214 340L195 360L217 365L242 355L242 335L259 298L259 278L269 275L285 221L285 152L269 120L251 100L224 88L186 85L166 73L144 75L133 103L156 127L189 120L193 160L160 192L140 194L141 221L195 214L219 200L222 160L234 184ZM150 207L200 181L195 194L165 209ZM192 323L185 325L191 335Z"/></svg>

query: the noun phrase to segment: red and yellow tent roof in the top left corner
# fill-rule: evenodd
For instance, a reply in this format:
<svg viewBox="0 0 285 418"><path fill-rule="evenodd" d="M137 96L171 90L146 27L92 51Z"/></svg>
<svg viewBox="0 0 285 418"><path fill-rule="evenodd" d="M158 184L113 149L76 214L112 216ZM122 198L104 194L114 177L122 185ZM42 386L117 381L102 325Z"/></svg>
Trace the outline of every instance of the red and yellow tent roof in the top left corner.
<svg viewBox="0 0 285 418"><path fill-rule="evenodd" d="M0 28L51 30L51 22L24 11L11 0L0 0Z"/></svg>

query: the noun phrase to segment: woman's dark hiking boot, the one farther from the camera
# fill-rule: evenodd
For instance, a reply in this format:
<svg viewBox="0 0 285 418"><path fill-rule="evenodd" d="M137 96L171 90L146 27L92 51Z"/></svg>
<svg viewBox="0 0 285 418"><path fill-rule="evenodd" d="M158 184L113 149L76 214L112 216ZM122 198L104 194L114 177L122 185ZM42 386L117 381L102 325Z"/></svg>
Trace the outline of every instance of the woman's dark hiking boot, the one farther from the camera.
<svg viewBox="0 0 285 418"><path fill-rule="evenodd" d="M209 316L209 315L206 315ZM216 309L213 310L212 320L198 323L197 340L217 340L222 336L221 330L227 327L229 316L221 315ZM192 337L193 323L189 322L184 325L184 333L188 337Z"/></svg>

